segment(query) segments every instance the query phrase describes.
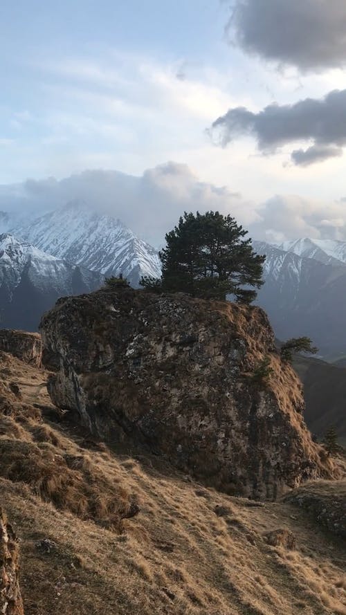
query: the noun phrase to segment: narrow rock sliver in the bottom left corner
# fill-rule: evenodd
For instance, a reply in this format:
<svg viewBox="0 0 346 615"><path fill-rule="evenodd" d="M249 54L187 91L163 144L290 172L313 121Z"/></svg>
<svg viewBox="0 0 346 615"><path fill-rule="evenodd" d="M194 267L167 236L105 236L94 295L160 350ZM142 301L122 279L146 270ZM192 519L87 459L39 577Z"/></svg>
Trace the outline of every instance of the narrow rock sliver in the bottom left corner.
<svg viewBox="0 0 346 615"><path fill-rule="evenodd" d="M24 615L19 591L19 548L11 526L0 508L0 613Z"/></svg>

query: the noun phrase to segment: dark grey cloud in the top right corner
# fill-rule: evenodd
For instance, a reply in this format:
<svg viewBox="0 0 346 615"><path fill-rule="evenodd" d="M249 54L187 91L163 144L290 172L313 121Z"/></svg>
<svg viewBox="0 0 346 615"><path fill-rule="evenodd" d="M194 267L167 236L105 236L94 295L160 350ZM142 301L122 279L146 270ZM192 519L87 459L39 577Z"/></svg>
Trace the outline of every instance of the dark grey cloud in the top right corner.
<svg viewBox="0 0 346 615"><path fill-rule="evenodd" d="M246 53L300 71L346 64L344 0L235 0L230 40Z"/></svg>

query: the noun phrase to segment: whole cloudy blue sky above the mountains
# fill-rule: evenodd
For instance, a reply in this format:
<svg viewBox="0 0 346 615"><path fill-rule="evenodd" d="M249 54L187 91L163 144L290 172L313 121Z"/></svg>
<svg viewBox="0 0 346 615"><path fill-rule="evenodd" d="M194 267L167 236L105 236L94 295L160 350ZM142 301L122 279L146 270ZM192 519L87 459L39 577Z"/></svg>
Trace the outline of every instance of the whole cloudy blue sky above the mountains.
<svg viewBox="0 0 346 615"><path fill-rule="evenodd" d="M0 209L346 239L343 1L2 0L0 54Z"/></svg>

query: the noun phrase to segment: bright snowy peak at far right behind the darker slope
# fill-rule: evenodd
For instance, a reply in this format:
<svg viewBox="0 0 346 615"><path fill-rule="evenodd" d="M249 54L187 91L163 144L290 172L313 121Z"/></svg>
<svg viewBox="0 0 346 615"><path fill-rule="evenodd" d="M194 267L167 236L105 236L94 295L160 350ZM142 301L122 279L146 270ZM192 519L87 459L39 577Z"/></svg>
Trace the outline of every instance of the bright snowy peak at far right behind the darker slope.
<svg viewBox="0 0 346 615"><path fill-rule="evenodd" d="M325 265L340 265L346 263L346 241L336 239L309 239L304 237L295 241L284 241L277 246L286 252L312 258Z"/></svg>

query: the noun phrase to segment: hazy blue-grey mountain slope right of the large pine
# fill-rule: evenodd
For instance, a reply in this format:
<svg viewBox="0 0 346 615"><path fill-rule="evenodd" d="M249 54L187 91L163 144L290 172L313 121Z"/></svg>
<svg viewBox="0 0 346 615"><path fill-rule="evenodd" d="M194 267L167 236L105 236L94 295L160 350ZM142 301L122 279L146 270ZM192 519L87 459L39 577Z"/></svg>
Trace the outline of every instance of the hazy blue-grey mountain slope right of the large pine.
<svg viewBox="0 0 346 615"><path fill-rule="evenodd" d="M257 304L268 313L278 338L309 336L321 354L346 350L346 265L323 264L293 251L254 241L266 255L265 284Z"/></svg>

